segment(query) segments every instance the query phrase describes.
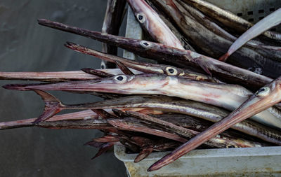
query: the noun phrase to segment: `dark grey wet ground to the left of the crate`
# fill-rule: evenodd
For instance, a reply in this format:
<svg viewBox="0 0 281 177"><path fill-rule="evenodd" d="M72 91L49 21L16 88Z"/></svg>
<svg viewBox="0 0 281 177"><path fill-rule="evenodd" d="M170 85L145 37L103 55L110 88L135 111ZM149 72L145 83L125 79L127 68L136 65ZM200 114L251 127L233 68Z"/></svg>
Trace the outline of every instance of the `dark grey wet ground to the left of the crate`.
<svg viewBox="0 0 281 177"><path fill-rule="evenodd" d="M1 0L0 71L72 71L98 69L100 59L63 46L72 41L100 50L101 44L88 38L42 27L46 18L76 27L100 31L105 0ZM124 24L122 35L124 35ZM24 81L0 81L26 83ZM51 92L66 104L96 101L91 95ZM0 88L0 122L35 118L44 103L34 92ZM96 130L43 129L27 127L0 132L0 176L126 176L123 162L106 153L90 160L97 149L83 146Z"/></svg>

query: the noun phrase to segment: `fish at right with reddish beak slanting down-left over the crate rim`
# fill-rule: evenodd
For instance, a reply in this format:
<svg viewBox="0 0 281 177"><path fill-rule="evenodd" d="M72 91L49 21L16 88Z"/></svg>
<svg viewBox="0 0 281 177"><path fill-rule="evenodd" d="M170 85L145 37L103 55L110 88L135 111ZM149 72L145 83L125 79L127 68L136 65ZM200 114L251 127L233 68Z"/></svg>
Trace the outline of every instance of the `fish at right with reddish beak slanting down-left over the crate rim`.
<svg viewBox="0 0 281 177"><path fill-rule="evenodd" d="M171 162L174 162L182 155L190 152L200 146L202 143L210 139L211 137L216 136L226 129L230 128L232 125L235 125L237 122L241 122L261 111L266 110L270 106L277 104L281 101L281 77L275 79L269 85L261 87L255 94L251 95L247 101L244 101L239 108L235 109L230 115L221 120L220 122L211 125L204 132L190 139L190 141L184 143L182 146L176 148L168 155L162 157L162 159L152 164L148 171L154 171L164 167Z"/></svg>

